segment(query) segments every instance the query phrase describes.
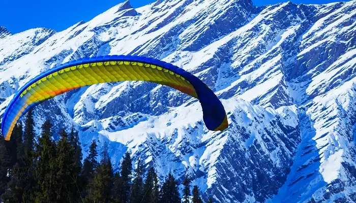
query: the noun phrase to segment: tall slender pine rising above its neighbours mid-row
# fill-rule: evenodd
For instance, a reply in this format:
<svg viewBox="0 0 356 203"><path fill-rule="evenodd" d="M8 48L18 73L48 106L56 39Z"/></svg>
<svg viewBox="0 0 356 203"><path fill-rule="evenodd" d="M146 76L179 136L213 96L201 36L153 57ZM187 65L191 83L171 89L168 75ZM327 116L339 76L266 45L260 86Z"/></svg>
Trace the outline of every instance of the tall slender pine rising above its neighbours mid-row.
<svg viewBox="0 0 356 203"><path fill-rule="evenodd" d="M131 188L131 174L132 174L132 163L130 153L126 152L123 162L121 164L121 178L123 181L123 187L121 188L121 201L126 203L130 200L130 188Z"/></svg>

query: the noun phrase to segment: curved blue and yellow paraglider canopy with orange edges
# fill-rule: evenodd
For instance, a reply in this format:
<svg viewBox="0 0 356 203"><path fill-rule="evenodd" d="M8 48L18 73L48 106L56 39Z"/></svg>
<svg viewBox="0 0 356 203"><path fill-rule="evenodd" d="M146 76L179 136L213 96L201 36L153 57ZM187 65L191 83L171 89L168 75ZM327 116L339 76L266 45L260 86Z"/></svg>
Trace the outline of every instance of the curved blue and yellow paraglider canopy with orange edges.
<svg viewBox="0 0 356 203"><path fill-rule="evenodd" d="M3 137L10 140L16 122L30 108L67 91L106 82L149 81L167 85L199 99L209 130L228 127L223 105L201 80L170 63L139 56L99 56L70 61L26 83L7 107L2 121Z"/></svg>

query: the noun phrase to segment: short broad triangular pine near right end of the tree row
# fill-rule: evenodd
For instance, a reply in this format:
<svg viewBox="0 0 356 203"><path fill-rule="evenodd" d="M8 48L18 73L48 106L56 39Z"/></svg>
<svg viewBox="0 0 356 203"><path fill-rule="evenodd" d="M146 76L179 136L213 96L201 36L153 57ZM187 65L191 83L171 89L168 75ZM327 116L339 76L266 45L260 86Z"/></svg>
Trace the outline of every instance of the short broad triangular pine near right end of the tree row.
<svg viewBox="0 0 356 203"><path fill-rule="evenodd" d="M160 203L180 203L180 194L178 190L178 182L175 181L172 174L168 174L166 181L163 183L160 190Z"/></svg>

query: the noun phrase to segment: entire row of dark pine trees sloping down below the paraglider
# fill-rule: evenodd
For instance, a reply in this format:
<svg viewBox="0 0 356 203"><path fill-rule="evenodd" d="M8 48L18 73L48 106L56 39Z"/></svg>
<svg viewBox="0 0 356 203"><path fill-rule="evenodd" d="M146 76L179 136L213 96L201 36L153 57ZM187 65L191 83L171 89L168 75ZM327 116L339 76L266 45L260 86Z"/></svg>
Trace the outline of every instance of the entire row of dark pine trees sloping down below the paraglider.
<svg viewBox="0 0 356 203"><path fill-rule="evenodd" d="M54 141L52 125L46 120L35 142L34 125L29 111L24 126L21 122L15 125L10 141L0 139L0 202L202 203L199 188L194 186L191 192L188 176L181 196L172 174L160 183L154 167L145 171L141 159L133 170L129 152L120 170L114 172L106 144L98 152L93 140L82 160L78 132L73 127L68 132L61 129L60 139ZM213 202L212 198L208 202Z"/></svg>

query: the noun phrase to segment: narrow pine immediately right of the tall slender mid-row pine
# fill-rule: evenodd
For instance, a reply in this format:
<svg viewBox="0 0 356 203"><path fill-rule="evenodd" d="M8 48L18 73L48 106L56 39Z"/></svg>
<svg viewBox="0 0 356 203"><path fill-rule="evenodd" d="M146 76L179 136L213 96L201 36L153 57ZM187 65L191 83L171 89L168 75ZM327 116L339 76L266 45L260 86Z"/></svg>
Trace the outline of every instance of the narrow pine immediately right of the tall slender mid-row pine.
<svg viewBox="0 0 356 203"><path fill-rule="evenodd" d="M131 186L131 203L140 203L142 201L143 191L143 164L140 158L138 158L137 168L135 170L135 178Z"/></svg>

